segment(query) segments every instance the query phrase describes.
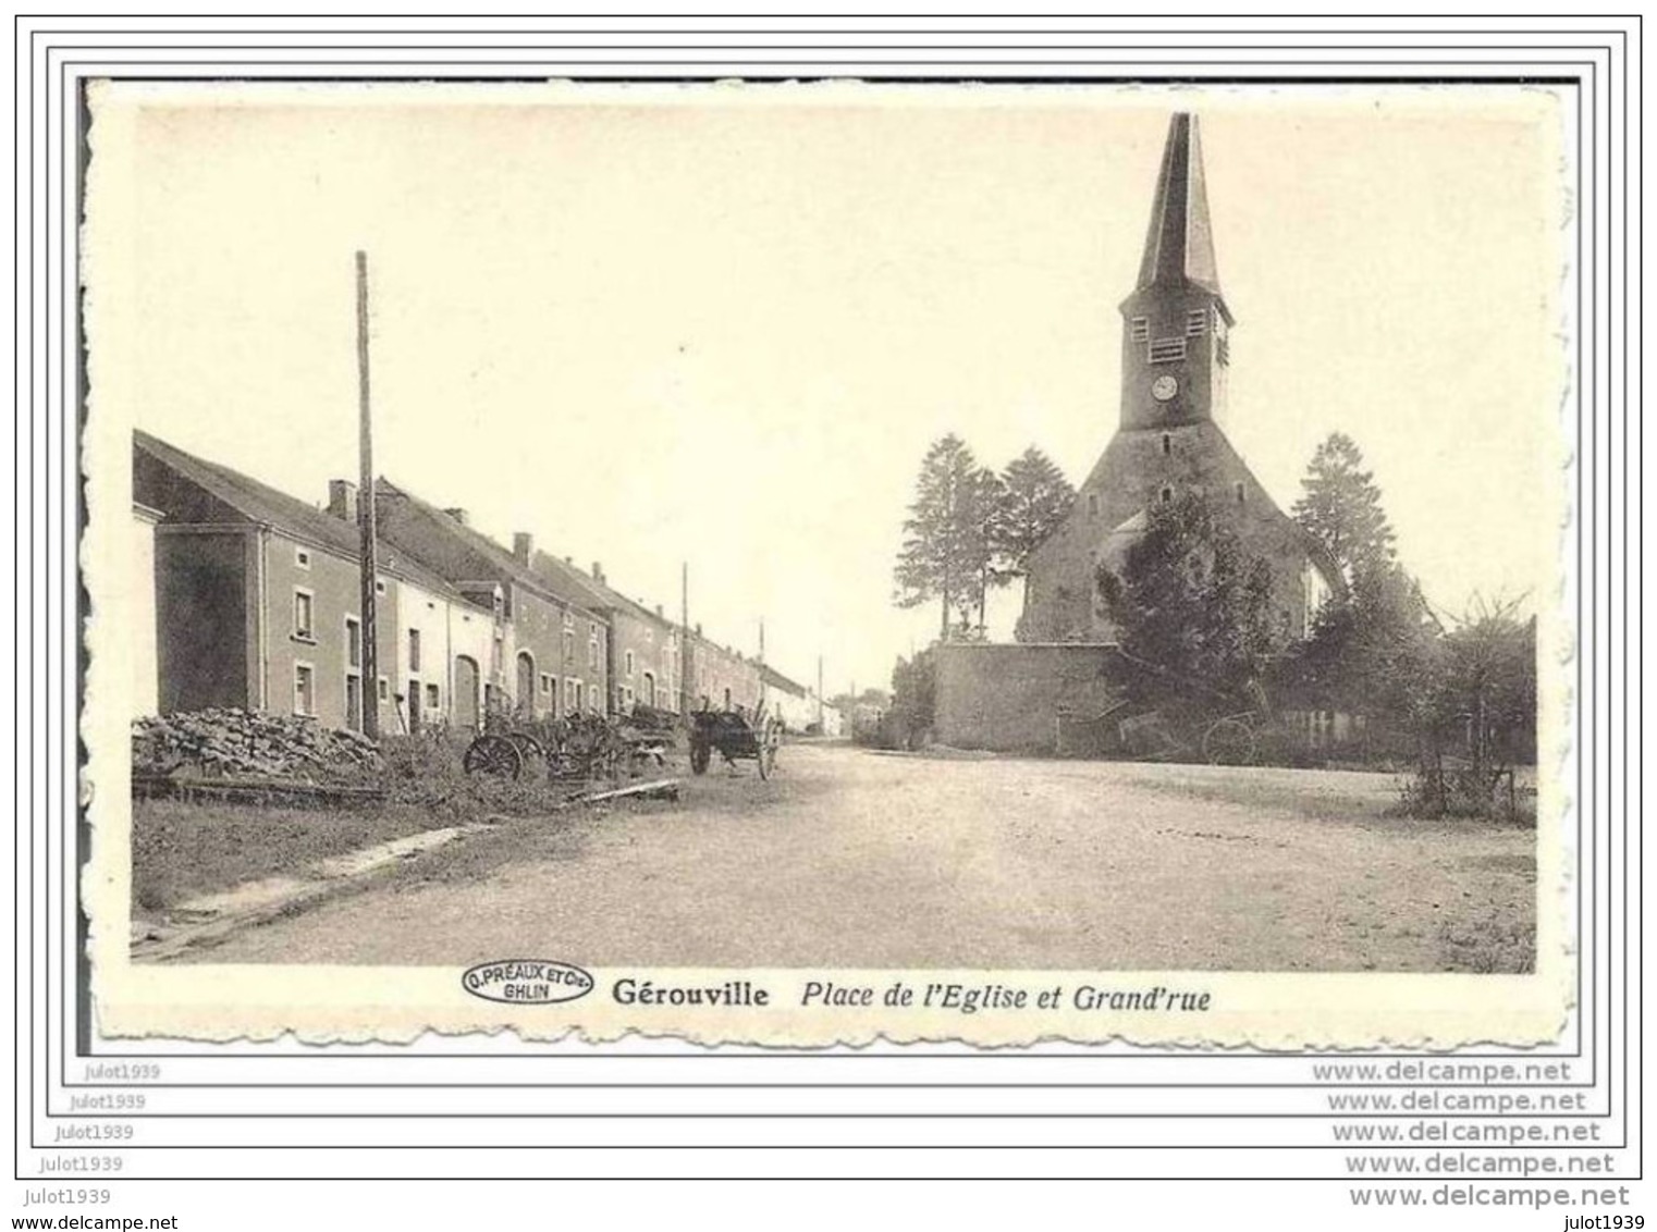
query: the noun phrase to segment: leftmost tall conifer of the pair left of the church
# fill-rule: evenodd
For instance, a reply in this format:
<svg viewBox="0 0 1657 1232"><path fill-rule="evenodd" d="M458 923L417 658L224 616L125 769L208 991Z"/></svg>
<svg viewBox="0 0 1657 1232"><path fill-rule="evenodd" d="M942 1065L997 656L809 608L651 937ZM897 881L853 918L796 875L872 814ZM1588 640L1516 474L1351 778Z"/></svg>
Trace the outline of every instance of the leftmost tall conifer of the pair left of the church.
<svg viewBox="0 0 1657 1232"><path fill-rule="evenodd" d="M953 432L933 442L921 460L893 571L895 601L900 608L916 608L938 599L938 636L943 639L949 638L951 611L963 623L969 623L978 611L983 621L984 588L994 556L989 522L998 484Z"/></svg>

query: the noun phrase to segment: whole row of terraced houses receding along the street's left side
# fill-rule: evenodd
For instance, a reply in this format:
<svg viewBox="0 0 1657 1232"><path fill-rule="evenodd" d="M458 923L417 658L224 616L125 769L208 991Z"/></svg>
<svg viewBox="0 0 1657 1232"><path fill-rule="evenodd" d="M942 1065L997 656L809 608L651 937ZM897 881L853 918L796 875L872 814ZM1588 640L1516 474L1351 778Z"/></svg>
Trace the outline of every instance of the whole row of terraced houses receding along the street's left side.
<svg viewBox="0 0 1657 1232"><path fill-rule="evenodd" d="M133 437L134 561L154 626L134 656L139 709L215 705L313 715L381 732L661 710L780 710L790 727L838 715L756 657L683 626L537 546L474 528L388 480L379 532L376 679L363 679L360 505L350 480L323 508L184 452Z"/></svg>

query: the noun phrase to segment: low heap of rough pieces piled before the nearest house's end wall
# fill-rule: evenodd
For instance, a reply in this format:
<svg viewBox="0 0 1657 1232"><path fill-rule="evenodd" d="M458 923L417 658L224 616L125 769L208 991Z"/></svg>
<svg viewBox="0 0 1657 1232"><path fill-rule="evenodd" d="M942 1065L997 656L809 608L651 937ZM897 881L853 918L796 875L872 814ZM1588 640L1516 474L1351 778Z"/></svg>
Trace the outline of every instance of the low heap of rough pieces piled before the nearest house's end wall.
<svg viewBox="0 0 1657 1232"><path fill-rule="evenodd" d="M366 735L331 730L305 715L214 709L133 724L138 773L340 780L378 768L379 750Z"/></svg>

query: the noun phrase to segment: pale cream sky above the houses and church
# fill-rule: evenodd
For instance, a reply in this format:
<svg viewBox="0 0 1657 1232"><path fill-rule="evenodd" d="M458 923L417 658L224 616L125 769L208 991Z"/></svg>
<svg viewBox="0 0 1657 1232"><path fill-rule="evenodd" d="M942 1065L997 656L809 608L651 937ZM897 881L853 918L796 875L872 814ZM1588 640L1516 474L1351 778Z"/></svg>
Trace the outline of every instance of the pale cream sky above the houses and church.
<svg viewBox="0 0 1657 1232"><path fill-rule="evenodd" d="M936 633L891 601L926 445L1080 482L1115 431L1176 109L1266 488L1347 432L1435 604L1549 601L1571 202L1519 88L109 86L91 414L321 503L361 248L381 474L669 613L688 561L711 636L883 686Z"/></svg>

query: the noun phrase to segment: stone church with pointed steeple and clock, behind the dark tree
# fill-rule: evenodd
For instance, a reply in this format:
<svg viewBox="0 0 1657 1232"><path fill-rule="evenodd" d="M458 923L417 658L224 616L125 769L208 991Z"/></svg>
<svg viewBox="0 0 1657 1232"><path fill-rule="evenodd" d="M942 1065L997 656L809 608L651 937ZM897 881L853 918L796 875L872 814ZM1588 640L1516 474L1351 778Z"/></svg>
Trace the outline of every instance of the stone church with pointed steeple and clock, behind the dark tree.
<svg viewBox="0 0 1657 1232"><path fill-rule="evenodd" d="M1215 503L1243 545L1271 563L1273 601L1306 638L1339 586L1334 566L1249 472L1220 427L1234 318L1220 290L1191 114L1168 124L1138 283L1122 303L1122 411L1065 522L1029 561L1017 639L1112 642L1100 565L1118 566L1147 510L1195 493Z"/></svg>

